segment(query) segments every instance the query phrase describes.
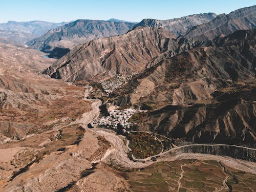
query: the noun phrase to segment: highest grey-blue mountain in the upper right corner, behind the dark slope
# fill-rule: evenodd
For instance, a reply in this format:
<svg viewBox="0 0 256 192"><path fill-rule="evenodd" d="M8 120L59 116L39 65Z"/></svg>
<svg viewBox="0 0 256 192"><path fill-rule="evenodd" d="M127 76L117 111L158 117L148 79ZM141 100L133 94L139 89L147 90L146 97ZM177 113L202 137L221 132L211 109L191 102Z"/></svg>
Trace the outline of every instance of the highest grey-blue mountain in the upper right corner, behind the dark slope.
<svg viewBox="0 0 256 192"><path fill-rule="evenodd" d="M256 6L220 14L211 22L195 26L185 35L188 39L206 40L218 35L228 35L238 30L252 29L256 26Z"/></svg>

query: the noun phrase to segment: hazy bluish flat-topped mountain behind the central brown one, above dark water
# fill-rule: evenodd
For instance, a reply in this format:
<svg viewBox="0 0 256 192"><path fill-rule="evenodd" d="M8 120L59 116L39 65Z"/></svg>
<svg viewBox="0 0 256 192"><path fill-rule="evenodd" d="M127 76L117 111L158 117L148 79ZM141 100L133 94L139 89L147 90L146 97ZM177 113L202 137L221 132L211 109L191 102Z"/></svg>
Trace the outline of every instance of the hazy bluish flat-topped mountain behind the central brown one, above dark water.
<svg viewBox="0 0 256 192"><path fill-rule="evenodd" d="M120 35L132 29L134 23L108 22L103 20L76 20L62 27L52 29L28 42L32 48L51 52L54 48L73 48L86 41ZM60 58L62 54L57 57Z"/></svg>

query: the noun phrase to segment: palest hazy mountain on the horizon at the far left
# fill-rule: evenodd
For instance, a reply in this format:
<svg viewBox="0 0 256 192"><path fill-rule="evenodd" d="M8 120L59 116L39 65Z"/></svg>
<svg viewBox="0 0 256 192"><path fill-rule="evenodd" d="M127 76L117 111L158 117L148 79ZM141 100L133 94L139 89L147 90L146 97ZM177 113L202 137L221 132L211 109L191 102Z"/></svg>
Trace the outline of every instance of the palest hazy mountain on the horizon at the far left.
<svg viewBox="0 0 256 192"><path fill-rule="evenodd" d="M14 22L0 24L0 42L23 46L29 40L39 37L50 29L67 23L50 23L35 20L32 22Z"/></svg>

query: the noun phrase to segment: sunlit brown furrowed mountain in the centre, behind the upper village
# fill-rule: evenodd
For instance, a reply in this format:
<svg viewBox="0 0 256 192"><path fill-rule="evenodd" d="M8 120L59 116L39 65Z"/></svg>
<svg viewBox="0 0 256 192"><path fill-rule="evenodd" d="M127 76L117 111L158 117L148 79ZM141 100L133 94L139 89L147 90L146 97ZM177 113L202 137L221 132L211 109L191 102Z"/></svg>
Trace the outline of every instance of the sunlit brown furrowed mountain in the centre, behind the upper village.
<svg viewBox="0 0 256 192"><path fill-rule="evenodd" d="M132 74L168 47L176 47L172 38L175 35L165 29L136 28L123 35L94 39L77 46L44 73L66 81Z"/></svg>

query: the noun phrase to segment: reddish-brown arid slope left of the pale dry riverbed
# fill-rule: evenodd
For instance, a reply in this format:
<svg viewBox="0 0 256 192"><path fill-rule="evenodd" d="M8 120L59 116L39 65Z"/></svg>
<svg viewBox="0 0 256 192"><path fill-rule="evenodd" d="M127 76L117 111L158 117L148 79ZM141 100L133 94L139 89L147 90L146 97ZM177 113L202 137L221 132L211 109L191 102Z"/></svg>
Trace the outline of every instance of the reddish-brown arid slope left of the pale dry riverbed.
<svg viewBox="0 0 256 192"><path fill-rule="evenodd" d="M82 100L83 89L38 75L54 59L10 45L1 44L0 52L0 143L47 130L90 109Z"/></svg>

